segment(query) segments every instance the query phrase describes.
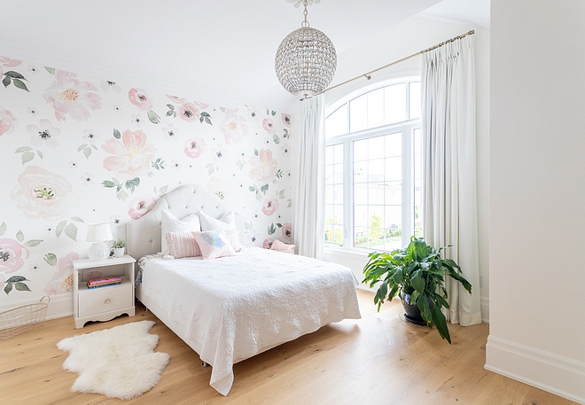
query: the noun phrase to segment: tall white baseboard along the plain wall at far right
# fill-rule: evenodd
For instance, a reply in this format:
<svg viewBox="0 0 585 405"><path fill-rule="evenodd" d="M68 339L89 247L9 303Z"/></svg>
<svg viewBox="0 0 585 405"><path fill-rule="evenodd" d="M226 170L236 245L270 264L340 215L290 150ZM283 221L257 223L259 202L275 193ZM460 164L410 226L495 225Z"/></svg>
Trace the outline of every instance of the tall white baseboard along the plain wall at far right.
<svg viewBox="0 0 585 405"><path fill-rule="evenodd" d="M583 362L490 335L485 369L585 404Z"/></svg>

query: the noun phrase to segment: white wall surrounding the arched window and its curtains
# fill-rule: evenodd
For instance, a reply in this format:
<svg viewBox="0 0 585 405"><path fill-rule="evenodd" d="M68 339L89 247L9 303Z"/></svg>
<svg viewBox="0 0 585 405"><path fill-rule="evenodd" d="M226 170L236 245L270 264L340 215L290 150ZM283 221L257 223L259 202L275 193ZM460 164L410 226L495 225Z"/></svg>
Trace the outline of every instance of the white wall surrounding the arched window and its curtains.
<svg viewBox="0 0 585 405"><path fill-rule="evenodd" d="M483 288L473 286L474 293L480 293L481 311L485 322L489 320L489 30L462 24L422 19L414 17L387 29L373 37L370 42L362 43L339 54L338 71L335 83L345 82L355 76L365 74L380 66L394 62L413 53L425 50L456 35L474 29L476 77L477 77L477 162L478 162L478 201L480 227L480 275ZM339 97L371 82L381 81L388 76L420 72L420 58L411 58L391 66L377 74L372 74L370 82L365 78L348 83L327 93L327 102L333 103ZM364 253L339 253L326 249L325 260L345 264L354 270L359 280L363 279L362 269L367 261Z"/></svg>

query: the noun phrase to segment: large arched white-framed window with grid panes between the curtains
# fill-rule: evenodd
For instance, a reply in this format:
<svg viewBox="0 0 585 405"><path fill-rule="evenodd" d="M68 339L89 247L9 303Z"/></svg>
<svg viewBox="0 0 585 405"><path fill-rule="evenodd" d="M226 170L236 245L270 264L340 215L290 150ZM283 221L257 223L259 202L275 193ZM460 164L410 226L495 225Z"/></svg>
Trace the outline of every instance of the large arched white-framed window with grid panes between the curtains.
<svg viewBox="0 0 585 405"><path fill-rule="evenodd" d="M344 101L325 121L325 243L408 245L422 233L420 82L394 82Z"/></svg>

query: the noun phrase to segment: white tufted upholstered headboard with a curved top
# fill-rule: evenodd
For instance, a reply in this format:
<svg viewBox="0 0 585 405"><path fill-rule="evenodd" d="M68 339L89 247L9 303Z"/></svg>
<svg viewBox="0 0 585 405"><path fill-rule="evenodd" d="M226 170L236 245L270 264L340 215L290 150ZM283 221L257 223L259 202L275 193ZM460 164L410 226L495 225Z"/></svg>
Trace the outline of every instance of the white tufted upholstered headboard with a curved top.
<svg viewBox="0 0 585 405"><path fill-rule="evenodd" d="M128 254L136 261L145 254L160 252L160 215L163 209L168 209L179 219L198 211L203 211L205 214L219 219L230 211L223 205L221 199L203 186L183 185L170 191L160 198L148 214L135 221L130 221L126 225ZM234 217L238 227L239 216L234 215ZM238 231L241 238L241 229Z"/></svg>

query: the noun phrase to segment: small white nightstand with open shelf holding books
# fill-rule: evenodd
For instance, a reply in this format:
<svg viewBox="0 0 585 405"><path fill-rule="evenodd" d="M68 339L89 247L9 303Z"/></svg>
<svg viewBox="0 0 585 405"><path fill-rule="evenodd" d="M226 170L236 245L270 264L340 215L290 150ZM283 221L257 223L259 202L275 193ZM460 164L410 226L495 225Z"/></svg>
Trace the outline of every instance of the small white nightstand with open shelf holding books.
<svg viewBox="0 0 585 405"><path fill-rule="evenodd" d="M105 261L73 261L75 328L82 328L89 321L109 321L122 314L135 315L135 262L128 254ZM87 280L92 270L99 271L104 276L120 275L121 284L89 289Z"/></svg>

